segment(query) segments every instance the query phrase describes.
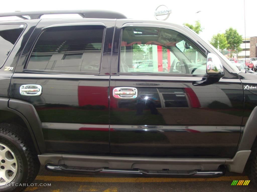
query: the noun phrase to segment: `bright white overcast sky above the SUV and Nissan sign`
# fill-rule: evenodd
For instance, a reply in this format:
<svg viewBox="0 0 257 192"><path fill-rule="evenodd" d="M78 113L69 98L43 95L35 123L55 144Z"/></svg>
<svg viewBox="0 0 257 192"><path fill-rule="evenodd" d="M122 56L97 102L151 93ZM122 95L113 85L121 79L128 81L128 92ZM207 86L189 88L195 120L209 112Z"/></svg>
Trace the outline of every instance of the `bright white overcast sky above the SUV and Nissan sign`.
<svg viewBox="0 0 257 192"><path fill-rule="evenodd" d="M166 5L172 10L172 14L167 19L168 22L194 24L195 20L200 20L204 27L200 36L210 40L214 34L224 33L229 27L236 28L239 34L245 36L243 2L243 0L1 0L0 12L104 9L121 12L128 18L155 20L154 10L159 5ZM257 1L245 0L245 8L246 37L257 36ZM196 13L197 11L201 12Z"/></svg>

